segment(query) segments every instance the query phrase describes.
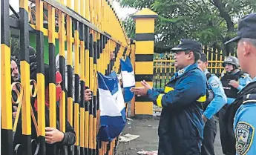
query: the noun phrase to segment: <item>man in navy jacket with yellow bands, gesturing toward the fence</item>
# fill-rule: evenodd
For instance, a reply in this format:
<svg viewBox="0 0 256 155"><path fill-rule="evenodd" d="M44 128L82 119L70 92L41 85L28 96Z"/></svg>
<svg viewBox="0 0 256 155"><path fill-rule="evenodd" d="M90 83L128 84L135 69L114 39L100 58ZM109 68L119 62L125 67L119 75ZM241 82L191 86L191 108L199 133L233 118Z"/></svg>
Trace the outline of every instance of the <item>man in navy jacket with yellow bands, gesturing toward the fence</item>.
<svg viewBox="0 0 256 155"><path fill-rule="evenodd" d="M182 39L171 49L177 72L165 89L151 88L142 81L141 88L131 90L147 95L154 105L163 107L158 128L159 155L199 155L203 141L203 102L206 101L206 76L198 68L202 45Z"/></svg>

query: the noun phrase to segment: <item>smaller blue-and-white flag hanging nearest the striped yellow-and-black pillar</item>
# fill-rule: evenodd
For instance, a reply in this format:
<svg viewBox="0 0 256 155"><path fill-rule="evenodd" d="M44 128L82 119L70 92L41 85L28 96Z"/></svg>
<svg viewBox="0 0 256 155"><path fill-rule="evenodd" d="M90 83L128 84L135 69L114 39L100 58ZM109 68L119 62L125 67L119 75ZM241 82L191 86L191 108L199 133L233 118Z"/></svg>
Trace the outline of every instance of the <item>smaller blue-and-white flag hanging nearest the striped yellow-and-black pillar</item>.
<svg viewBox="0 0 256 155"><path fill-rule="evenodd" d="M124 98L125 102L129 102L134 97L134 93L131 92L131 88L135 87L134 70L131 65L131 59L129 59L128 57L126 57L125 61L120 59L120 62L122 85L125 93Z"/></svg>

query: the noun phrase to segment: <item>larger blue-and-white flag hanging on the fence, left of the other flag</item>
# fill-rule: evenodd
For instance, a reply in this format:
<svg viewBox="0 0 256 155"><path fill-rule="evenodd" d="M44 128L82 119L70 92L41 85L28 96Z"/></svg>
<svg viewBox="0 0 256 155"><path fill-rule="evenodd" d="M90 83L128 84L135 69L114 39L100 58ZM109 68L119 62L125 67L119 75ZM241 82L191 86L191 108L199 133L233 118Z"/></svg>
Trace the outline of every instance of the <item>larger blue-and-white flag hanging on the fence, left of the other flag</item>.
<svg viewBox="0 0 256 155"><path fill-rule="evenodd" d="M98 73L100 128L97 139L110 142L125 128L125 102L116 76Z"/></svg>

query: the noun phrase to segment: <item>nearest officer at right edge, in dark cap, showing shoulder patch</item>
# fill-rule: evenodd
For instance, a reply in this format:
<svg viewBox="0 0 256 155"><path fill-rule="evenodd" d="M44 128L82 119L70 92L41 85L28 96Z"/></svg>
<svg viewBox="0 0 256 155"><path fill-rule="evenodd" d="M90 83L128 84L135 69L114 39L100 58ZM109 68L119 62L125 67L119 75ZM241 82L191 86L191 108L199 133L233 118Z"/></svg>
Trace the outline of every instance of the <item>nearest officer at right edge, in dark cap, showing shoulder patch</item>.
<svg viewBox="0 0 256 155"><path fill-rule="evenodd" d="M237 36L229 42L237 42L240 67L253 78L232 104L234 138L237 154L256 154L256 13L243 16L238 23ZM226 42L226 44L229 44Z"/></svg>

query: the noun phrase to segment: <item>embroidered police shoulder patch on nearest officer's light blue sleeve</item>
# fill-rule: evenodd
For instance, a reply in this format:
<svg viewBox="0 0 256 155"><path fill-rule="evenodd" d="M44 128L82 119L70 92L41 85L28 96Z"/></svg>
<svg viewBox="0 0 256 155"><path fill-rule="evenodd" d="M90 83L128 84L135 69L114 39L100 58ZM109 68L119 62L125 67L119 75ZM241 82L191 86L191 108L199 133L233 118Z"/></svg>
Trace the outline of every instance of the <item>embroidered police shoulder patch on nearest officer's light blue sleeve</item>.
<svg viewBox="0 0 256 155"><path fill-rule="evenodd" d="M255 135L255 128L246 122L238 122L234 131L236 144L235 148L238 155L245 155L251 145L253 136Z"/></svg>

